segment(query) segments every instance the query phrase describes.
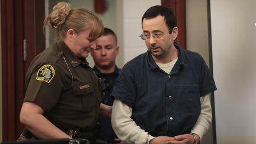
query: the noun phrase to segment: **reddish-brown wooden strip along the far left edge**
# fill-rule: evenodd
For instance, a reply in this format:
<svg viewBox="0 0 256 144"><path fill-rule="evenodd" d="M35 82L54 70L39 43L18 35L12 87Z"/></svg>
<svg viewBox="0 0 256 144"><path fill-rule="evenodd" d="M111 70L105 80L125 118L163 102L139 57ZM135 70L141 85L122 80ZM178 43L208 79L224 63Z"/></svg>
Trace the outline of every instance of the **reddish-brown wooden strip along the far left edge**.
<svg viewBox="0 0 256 144"><path fill-rule="evenodd" d="M15 139L14 95L14 4L13 0L1 1L2 23L2 105L3 105L3 140ZM5 22L5 23L4 23ZM4 24L3 24L4 23Z"/></svg>

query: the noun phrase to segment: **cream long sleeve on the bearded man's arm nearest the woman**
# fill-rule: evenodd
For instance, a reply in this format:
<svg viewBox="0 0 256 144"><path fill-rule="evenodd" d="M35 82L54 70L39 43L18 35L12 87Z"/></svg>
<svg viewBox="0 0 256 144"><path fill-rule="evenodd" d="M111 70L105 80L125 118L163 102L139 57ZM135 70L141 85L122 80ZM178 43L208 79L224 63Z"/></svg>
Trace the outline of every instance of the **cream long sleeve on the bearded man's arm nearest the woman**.
<svg viewBox="0 0 256 144"><path fill-rule="evenodd" d="M137 126L131 116L132 108L115 98L111 123L117 137L127 143L149 143L154 137Z"/></svg>

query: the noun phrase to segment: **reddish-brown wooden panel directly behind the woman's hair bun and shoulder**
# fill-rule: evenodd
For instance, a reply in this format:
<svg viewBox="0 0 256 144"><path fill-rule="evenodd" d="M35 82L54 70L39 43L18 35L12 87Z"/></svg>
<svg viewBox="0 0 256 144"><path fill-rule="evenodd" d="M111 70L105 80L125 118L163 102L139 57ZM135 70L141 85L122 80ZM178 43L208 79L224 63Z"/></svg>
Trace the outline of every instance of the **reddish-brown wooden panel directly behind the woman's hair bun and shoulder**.
<svg viewBox="0 0 256 144"><path fill-rule="evenodd" d="M46 47L43 34L44 0L26 0L23 9L24 39L27 41L27 60L24 62L26 72L34 56L43 52Z"/></svg>

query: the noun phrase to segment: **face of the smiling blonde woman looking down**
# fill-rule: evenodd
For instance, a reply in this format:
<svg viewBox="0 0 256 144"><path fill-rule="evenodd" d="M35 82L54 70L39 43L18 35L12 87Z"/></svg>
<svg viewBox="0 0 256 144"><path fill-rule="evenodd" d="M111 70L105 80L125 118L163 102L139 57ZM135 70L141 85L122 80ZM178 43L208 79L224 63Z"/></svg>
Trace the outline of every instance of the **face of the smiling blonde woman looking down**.
<svg viewBox="0 0 256 144"><path fill-rule="evenodd" d="M89 55L91 49L96 48L95 40L88 39L91 25L89 24L89 27L80 33L76 33L73 29L69 29L67 32L65 43L77 57L85 58Z"/></svg>

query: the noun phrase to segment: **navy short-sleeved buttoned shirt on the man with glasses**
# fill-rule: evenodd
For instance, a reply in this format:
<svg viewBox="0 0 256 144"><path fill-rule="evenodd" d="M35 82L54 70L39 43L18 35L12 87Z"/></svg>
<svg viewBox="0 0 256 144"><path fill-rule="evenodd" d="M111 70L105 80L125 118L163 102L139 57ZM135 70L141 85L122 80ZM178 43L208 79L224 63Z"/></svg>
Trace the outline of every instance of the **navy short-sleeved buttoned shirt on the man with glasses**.
<svg viewBox="0 0 256 144"><path fill-rule="evenodd" d="M111 93L132 108L132 119L152 136L190 133L200 114L200 97L216 90L203 58L175 47L178 60L170 73L148 51L124 65Z"/></svg>

